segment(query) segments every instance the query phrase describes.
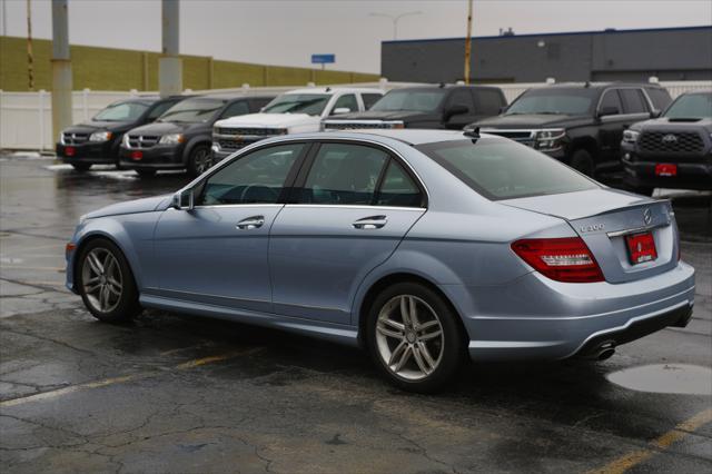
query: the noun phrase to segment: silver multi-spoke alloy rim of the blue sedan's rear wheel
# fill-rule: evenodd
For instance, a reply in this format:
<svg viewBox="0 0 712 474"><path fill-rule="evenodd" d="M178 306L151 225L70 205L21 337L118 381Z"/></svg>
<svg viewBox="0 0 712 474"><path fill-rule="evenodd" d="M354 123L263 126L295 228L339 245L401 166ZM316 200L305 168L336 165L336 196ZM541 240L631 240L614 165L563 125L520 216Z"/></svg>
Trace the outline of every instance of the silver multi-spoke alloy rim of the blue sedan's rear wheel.
<svg viewBox="0 0 712 474"><path fill-rule="evenodd" d="M407 381L422 381L438 367L445 338L433 308L413 295L389 299L378 313L376 347L384 365Z"/></svg>

